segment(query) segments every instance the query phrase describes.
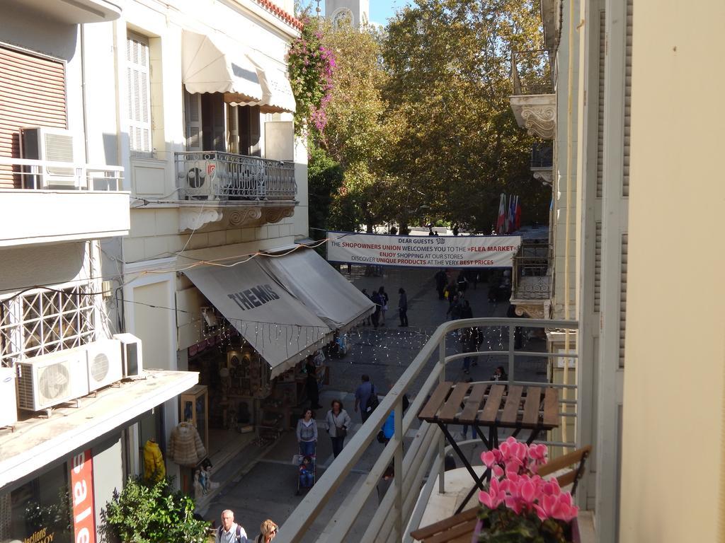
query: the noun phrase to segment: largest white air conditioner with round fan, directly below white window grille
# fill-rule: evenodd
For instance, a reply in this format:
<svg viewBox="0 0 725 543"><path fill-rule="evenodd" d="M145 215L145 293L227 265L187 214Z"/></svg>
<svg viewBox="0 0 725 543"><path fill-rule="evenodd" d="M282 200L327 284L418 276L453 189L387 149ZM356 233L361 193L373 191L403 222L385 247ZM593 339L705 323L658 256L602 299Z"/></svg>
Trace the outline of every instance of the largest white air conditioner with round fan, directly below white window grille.
<svg viewBox="0 0 725 543"><path fill-rule="evenodd" d="M88 394L86 348L62 350L17 363L17 405L42 411Z"/></svg>

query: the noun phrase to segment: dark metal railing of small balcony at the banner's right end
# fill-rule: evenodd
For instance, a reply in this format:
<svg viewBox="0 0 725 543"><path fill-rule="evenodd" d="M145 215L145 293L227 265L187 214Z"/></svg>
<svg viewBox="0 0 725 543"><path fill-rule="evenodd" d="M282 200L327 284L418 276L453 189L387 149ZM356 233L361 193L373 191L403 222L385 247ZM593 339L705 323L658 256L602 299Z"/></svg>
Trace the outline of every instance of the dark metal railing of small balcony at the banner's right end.
<svg viewBox="0 0 725 543"><path fill-rule="evenodd" d="M552 248L547 243L522 243L513 257L511 298L548 300L551 298L549 263Z"/></svg>

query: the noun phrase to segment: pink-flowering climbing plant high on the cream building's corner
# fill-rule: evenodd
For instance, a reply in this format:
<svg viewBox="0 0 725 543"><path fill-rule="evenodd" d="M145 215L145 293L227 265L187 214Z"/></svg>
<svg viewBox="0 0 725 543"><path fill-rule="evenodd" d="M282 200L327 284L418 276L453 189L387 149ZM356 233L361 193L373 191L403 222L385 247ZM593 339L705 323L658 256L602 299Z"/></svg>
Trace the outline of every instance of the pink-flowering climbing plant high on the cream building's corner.
<svg viewBox="0 0 725 543"><path fill-rule="evenodd" d="M307 130L322 133L327 125L326 107L331 100L335 55L323 45L319 25L302 17L302 33L287 53L289 81L297 102L294 126L297 135Z"/></svg>

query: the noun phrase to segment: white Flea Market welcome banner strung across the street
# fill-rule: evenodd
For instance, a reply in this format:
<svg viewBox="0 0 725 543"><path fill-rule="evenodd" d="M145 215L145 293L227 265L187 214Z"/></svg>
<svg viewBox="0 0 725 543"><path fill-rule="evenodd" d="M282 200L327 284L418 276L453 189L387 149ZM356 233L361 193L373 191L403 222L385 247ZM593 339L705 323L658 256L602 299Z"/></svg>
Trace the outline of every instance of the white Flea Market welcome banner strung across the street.
<svg viewBox="0 0 725 543"><path fill-rule="evenodd" d="M423 268L510 268L521 236L387 236L328 232L327 259Z"/></svg>

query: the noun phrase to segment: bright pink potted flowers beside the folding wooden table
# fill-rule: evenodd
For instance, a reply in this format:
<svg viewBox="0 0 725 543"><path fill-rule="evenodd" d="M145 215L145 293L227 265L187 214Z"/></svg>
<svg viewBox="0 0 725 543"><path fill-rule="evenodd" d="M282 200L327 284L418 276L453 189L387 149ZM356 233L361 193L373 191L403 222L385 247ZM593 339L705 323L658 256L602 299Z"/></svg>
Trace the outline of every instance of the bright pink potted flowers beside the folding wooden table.
<svg viewBox="0 0 725 543"><path fill-rule="evenodd" d="M579 509L556 479L537 475L547 461L545 445L526 445L509 437L498 449L481 454L492 471L481 491L479 542L563 543Z"/></svg>

